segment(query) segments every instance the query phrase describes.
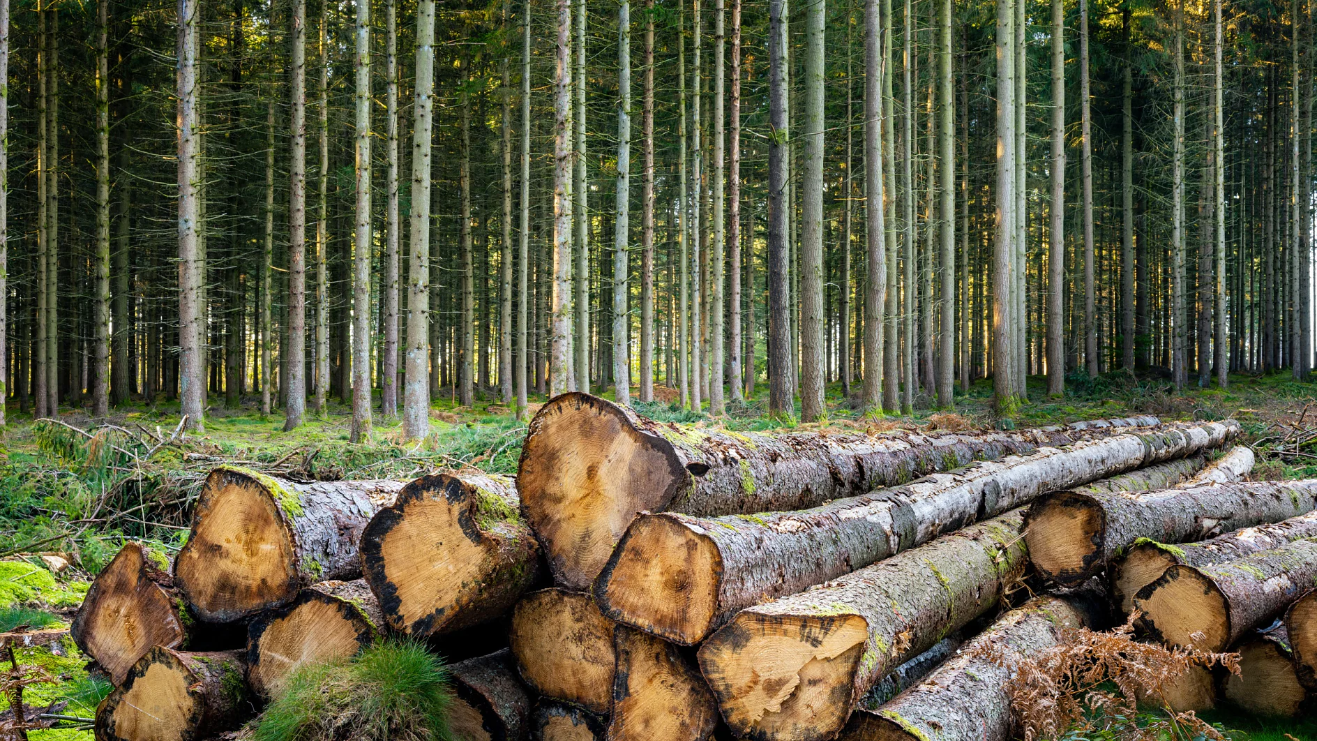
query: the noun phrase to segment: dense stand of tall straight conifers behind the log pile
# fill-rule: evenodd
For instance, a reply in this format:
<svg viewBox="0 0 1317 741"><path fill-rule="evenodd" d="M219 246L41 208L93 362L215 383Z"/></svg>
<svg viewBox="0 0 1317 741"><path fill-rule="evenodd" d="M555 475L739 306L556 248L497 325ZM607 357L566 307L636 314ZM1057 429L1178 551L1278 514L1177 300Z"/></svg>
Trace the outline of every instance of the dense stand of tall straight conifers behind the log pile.
<svg viewBox="0 0 1317 741"><path fill-rule="evenodd" d="M5 9L20 413L1010 418L1313 365L1297 0Z"/></svg>

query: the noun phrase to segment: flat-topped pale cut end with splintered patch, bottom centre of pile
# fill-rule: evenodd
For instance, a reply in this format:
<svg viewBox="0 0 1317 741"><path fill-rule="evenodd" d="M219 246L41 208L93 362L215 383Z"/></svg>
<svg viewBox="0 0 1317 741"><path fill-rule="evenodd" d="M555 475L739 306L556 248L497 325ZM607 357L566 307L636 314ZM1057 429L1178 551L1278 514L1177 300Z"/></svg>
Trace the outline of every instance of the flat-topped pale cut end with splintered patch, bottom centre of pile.
<svg viewBox="0 0 1317 741"><path fill-rule="evenodd" d="M859 614L747 610L701 646L699 667L734 736L824 740L836 736L857 700L868 637Z"/></svg>

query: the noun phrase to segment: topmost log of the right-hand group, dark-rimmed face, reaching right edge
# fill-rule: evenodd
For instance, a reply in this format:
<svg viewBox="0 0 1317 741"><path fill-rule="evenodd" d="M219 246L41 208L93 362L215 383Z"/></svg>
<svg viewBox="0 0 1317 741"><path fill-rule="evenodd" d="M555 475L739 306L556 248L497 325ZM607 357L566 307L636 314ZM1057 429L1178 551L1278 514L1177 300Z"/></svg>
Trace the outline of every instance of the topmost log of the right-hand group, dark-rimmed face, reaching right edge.
<svg viewBox="0 0 1317 741"><path fill-rule="evenodd" d="M1025 516L1029 558L1047 580L1083 584L1139 538L1202 541L1317 509L1317 480L1245 481L1143 494L1056 492Z"/></svg>

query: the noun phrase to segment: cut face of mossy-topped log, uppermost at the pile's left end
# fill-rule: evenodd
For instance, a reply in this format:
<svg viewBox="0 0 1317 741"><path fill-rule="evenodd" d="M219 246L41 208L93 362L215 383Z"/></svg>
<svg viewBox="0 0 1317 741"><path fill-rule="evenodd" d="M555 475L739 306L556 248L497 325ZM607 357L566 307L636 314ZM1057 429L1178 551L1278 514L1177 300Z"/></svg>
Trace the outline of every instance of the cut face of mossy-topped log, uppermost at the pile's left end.
<svg viewBox="0 0 1317 741"><path fill-rule="evenodd" d="M178 587L203 620L240 620L298 595L284 508L300 508L296 494L270 476L216 468L207 477L191 537L174 563Z"/></svg>

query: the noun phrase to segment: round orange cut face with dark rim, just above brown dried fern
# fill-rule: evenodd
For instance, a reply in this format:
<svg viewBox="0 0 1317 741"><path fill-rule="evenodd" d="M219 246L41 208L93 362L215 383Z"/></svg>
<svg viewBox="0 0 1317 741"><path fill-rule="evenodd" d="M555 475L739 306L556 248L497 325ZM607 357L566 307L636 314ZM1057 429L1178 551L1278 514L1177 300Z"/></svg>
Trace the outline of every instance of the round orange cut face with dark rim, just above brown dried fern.
<svg viewBox="0 0 1317 741"><path fill-rule="evenodd" d="M1223 651L1230 643L1230 605L1217 584L1197 568L1177 564L1134 597L1139 626L1171 646Z"/></svg>

